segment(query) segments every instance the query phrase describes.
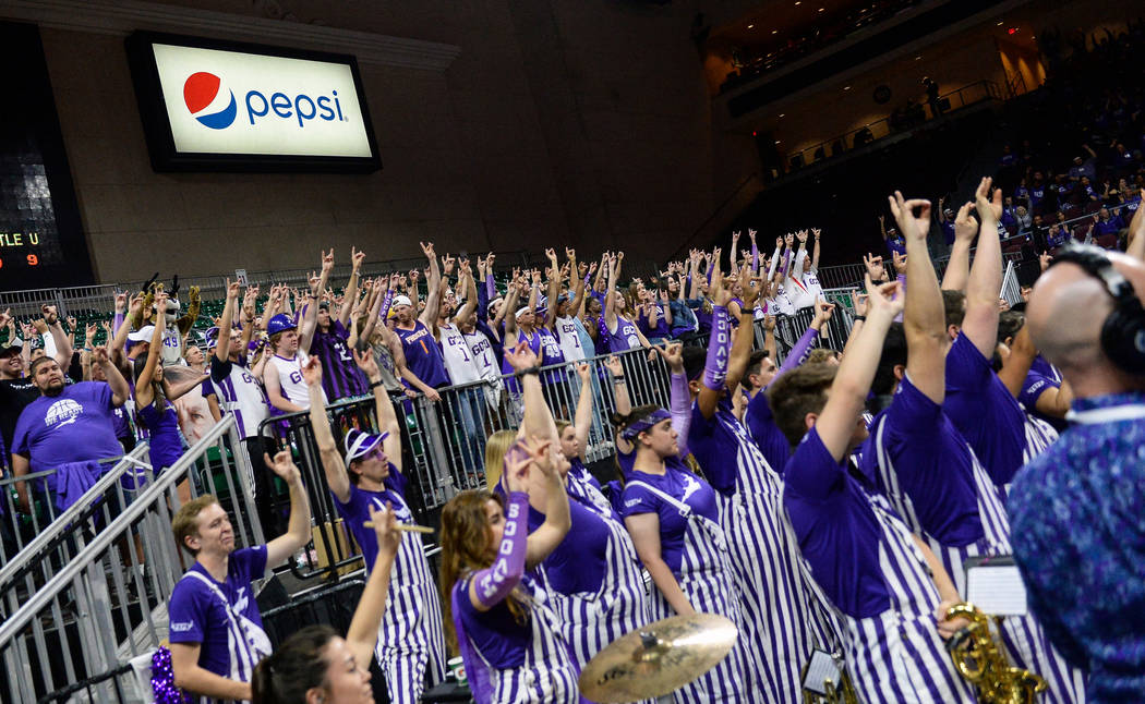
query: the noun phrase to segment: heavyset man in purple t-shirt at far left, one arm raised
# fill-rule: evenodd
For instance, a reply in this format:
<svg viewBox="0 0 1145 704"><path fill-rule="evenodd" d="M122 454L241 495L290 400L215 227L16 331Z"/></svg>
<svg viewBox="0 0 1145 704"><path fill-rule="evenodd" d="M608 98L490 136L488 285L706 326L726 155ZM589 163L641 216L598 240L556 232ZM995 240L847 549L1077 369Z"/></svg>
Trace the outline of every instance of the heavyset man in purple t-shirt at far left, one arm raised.
<svg viewBox="0 0 1145 704"><path fill-rule="evenodd" d="M69 355L70 356L70 355ZM11 444L13 474L57 469L47 488L57 506L74 501L102 474L98 460L119 457L112 410L131 397L124 375L111 363L108 350L97 347L95 364L108 382L65 385L60 363L48 356L32 362L30 377L40 397L27 404L16 422ZM27 488L16 485L24 511L31 506Z"/></svg>

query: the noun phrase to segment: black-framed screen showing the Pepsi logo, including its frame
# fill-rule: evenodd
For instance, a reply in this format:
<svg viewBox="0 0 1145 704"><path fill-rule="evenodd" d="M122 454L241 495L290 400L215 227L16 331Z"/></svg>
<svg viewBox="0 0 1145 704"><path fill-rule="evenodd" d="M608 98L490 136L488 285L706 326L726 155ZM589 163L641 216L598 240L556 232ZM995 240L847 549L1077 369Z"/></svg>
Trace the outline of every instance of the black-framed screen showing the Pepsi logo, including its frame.
<svg viewBox="0 0 1145 704"><path fill-rule="evenodd" d="M151 32L127 52L156 171L381 167L353 56Z"/></svg>

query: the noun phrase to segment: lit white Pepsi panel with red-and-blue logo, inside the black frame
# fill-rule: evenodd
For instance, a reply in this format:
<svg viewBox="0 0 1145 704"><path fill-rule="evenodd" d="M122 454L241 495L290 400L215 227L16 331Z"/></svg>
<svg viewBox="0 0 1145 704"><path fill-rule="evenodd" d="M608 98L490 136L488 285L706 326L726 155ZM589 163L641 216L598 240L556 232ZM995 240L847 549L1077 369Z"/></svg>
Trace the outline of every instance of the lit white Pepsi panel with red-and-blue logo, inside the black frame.
<svg viewBox="0 0 1145 704"><path fill-rule="evenodd" d="M371 157L350 65L152 45L179 152Z"/></svg>

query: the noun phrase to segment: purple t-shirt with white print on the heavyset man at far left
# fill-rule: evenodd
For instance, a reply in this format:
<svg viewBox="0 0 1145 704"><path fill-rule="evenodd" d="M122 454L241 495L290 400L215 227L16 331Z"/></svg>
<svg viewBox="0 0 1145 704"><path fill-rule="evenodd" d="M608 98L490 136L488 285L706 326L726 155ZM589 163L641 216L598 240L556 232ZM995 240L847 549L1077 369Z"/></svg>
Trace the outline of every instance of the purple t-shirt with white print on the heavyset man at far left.
<svg viewBox="0 0 1145 704"><path fill-rule="evenodd" d="M40 396L16 421L11 452L31 460L32 472L68 462L119 457L111 387L103 381L65 386L58 396Z"/></svg>

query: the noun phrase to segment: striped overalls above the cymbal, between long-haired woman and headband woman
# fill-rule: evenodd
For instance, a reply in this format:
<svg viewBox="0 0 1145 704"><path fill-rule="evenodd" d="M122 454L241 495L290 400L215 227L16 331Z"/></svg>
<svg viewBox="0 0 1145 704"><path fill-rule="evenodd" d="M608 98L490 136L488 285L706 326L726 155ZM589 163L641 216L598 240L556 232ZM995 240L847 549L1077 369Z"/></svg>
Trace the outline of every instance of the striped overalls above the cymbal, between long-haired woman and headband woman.
<svg viewBox="0 0 1145 704"><path fill-rule="evenodd" d="M597 512L592 505L586 506ZM648 593L632 537L613 520L611 506L608 511L609 515L600 519L608 527L609 538L605 576L599 590L562 594L548 584L544 563L538 565L552 609L560 617L569 652L579 669L584 669L592 656L610 642L649 622ZM577 537L569 535L566 539L576 540Z"/></svg>

